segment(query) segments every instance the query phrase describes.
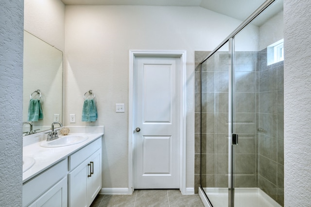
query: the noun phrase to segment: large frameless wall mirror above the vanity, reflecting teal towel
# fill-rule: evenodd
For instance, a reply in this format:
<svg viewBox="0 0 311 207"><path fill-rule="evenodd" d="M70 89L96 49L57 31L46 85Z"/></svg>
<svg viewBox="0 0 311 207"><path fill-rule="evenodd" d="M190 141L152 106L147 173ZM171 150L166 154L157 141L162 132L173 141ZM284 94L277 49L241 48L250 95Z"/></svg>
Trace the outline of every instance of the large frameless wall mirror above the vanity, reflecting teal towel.
<svg viewBox="0 0 311 207"><path fill-rule="evenodd" d="M63 52L24 31L23 136L62 122Z"/></svg>

